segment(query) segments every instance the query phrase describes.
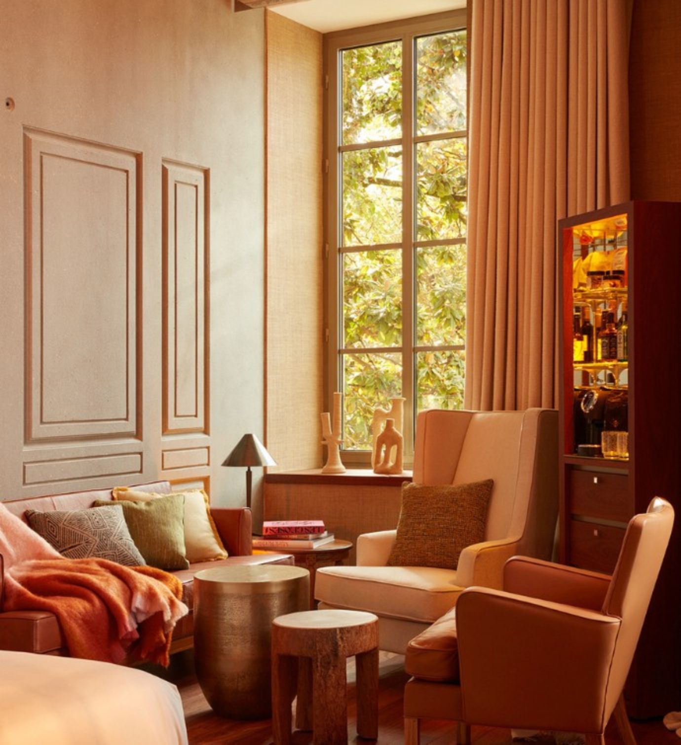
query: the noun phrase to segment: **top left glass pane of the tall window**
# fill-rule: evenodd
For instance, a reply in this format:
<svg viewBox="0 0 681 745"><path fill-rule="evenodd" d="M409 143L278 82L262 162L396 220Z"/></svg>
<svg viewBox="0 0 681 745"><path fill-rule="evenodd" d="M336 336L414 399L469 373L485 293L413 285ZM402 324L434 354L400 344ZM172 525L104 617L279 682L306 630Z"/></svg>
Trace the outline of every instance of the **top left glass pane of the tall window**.
<svg viewBox="0 0 681 745"><path fill-rule="evenodd" d="M343 51L342 142L402 136L402 42Z"/></svg>

